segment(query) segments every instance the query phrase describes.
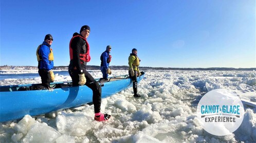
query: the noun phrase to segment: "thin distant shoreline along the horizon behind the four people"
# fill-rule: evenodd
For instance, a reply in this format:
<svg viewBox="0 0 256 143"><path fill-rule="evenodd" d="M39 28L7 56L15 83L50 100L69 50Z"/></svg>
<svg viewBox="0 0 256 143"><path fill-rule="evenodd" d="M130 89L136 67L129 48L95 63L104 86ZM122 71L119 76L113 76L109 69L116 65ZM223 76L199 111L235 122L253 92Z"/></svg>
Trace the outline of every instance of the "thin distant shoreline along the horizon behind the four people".
<svg viewBox="0 0 256 143"><path fill-rule="evenodd" d="M110 66L112 70L127 70L128 66ZM87 65L88 70L100 70L100 66L97 65ZM232 67L209 67L209 68L178 68L178 67L146 67L140 66L140 70L256 70L256 67L252 68L232 68ZM12 66L4 65L0 66L0 70L37 70L37 66ZM67 70L68 66L54 66L54 70Z"/></svg>

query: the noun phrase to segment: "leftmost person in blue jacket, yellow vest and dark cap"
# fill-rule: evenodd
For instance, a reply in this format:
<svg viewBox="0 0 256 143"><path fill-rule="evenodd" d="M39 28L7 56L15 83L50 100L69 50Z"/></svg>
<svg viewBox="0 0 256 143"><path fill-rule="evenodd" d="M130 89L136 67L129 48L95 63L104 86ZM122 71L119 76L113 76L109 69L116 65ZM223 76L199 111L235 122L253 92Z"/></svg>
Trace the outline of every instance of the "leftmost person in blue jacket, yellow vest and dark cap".
<svg viewBox="0 0 256 143"><path fill-rule="evenodd" d="M51 34L45 35L44 41L38 46L36 50L36 57L38 58L38 73L42 80L42 85L49 88L50 82L54 81L53 74L53 52L51 49L53 38Z"/></svg>

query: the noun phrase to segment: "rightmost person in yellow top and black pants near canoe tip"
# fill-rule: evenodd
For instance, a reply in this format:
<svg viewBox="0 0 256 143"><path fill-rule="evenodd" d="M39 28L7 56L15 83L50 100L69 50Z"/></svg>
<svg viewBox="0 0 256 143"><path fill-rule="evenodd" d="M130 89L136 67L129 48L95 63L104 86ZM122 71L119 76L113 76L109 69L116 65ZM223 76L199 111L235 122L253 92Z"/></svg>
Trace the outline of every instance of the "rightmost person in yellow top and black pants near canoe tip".
<svg viewBox="0 0 256 143"><path fill-rule="evenodd" d="M135 98L139 98L140 94L137 93L138 91L138 81L137 81L137 76L140 76L140 71L139 71L139 62L140 59L137 56L137 49L133 49L132 53L129 56L129 76L133 80L133 92Z"/></svg>

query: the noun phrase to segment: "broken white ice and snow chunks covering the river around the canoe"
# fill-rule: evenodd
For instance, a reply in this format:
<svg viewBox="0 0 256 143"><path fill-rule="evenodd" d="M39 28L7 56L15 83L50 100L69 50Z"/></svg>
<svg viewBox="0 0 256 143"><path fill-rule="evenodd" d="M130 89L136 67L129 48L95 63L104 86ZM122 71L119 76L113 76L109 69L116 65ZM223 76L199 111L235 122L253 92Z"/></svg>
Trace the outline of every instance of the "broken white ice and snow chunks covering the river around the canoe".
<svg viewBox="0 0 256 143"><path fill-rule="evenodd" d="M90 73L101 77L99 70ZM127 71L112 73L117 76ZM55 79L71 80L59 74ZM40 77L0 80L0 85L27 83L40 83ZM209 134L196 116L200 98L219 88L250 103L245 106L242 125L226 136ZM0 142L256 142L255 71L146 71L138 92L141 98L133 98L129 88L102 99L101 111L112 115L107 122L94 121L94 106L85 105L0 123Z"/></svg>

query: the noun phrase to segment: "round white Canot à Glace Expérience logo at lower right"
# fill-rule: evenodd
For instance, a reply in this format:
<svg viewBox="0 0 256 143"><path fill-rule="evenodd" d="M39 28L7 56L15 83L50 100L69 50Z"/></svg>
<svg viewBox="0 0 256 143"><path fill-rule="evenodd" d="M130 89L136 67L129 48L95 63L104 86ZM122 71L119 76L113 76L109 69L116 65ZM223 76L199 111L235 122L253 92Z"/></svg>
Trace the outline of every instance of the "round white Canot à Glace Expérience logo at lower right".
<svg viewBox="0 0 256 143"><path fill-rule="evenodd" d="M197 106L200 125L210 134L223 136L234 132L243 122L244 106L235 93L226 89L207 92Z"/></svg>

